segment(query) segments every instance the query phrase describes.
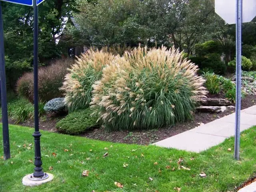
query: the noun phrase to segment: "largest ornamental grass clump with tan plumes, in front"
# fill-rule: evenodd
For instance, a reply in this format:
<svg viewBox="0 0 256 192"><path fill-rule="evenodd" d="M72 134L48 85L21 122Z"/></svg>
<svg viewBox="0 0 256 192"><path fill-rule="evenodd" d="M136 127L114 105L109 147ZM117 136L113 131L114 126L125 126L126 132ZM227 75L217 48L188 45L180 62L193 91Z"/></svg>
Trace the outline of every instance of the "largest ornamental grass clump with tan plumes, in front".
<svg viewBox="0 0 256 192"><path fill-rule="evenodd" d="M166 47L135 48L103 69L93 85L92 108L108 130L152 129L193 117L207 94L198 67Z"/></svg>

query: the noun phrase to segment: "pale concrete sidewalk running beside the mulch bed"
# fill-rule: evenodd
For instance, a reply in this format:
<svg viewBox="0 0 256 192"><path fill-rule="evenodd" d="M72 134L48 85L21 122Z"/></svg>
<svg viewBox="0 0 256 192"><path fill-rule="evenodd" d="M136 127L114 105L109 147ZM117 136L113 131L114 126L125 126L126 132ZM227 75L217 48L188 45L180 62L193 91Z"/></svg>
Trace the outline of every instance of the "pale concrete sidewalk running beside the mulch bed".
<svg viewBox="0 0 256 192"><path fill-rule="evenodd" d="M256 125L256 105L241 111L241 132ZM166 148L201 152L234 136L235 113L154 143Z"/></svg>

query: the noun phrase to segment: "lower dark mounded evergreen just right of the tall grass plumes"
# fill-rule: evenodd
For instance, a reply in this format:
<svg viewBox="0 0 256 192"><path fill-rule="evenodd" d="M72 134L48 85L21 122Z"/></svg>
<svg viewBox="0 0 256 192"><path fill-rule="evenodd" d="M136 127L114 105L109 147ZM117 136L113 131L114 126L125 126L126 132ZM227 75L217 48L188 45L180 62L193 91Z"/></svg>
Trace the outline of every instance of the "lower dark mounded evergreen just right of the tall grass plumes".
<svg viewBox="0 0 256 192"><path fill-rule="evenodd" d="M215 59L207 59L202 62L202 68L210 68L215 74L225 74L227 66L224 62Z"/></svg>

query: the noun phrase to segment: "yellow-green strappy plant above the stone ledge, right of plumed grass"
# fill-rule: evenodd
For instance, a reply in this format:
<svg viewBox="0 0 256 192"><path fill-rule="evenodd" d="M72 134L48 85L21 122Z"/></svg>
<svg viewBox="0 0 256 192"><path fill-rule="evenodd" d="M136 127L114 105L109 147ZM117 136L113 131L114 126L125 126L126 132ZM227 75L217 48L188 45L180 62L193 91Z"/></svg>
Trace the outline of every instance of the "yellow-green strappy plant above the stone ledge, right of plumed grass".
<svg viewBox="0 0 256 192"><path fill-rule="evenodd" d="M204 77L206 78L205 86L207 90L211 94L218 94L220 92L220 80L218 79L218 76L214 73L211 74L206 72Z"/></svg>

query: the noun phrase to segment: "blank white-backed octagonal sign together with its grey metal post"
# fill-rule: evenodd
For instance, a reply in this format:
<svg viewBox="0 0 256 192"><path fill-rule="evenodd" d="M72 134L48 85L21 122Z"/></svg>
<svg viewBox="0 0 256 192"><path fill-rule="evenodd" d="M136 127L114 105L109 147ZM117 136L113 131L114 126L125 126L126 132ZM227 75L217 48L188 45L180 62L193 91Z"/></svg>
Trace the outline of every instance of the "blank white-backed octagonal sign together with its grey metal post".
<svg viewBox="0 0 256 192"><path fill-rule="evenodd" d="M215 12L228 24L236 24L236 123L234 157L239 160L241 113L242 23L256 16L256 0L215 0Z"/></svg>

